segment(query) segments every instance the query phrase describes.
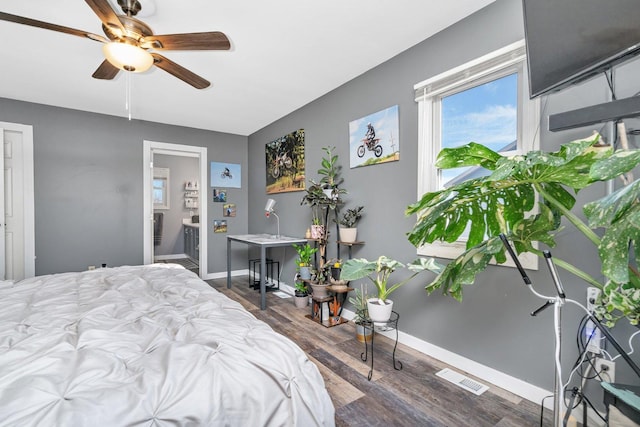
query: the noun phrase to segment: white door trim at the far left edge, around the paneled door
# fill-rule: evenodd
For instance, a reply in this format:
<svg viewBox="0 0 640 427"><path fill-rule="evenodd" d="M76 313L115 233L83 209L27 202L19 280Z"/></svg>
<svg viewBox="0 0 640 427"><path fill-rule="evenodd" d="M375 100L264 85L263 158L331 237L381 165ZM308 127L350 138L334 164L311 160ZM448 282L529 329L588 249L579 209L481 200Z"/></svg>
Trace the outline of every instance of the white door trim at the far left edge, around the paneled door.
<svg viewBox="0 0 640 427"><path fill-rule="evenodd" d="M33 173L33 126L0 122L2 132L9 130L22 133L22 174L24 197L24 277L36 275L36 227ZM4 147L2 147L4 153ZM4 154L3 154L4 155ZM2 171L4 173L4 171ZM4 193L4 189L2 189ZM2 219L4 221L4 218ZM2 230L4 232L4 230Z"/></svg>

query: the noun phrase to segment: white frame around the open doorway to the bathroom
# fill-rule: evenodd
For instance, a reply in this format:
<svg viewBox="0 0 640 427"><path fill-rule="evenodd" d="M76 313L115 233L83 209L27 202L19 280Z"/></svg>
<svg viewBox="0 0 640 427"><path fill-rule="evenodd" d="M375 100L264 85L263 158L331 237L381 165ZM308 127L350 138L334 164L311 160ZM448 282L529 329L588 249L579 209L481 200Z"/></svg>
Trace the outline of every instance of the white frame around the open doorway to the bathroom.
<svg viewBox="0 0 640 427"><path fill-rule="evenodd" d="M200 241L199 274L204 278L208 274L208 250L207 250L207 197L203 189L207 188L207 147L193 145L172 144L167 142L143 141L143 247L144 264L153 263L153 194L151 184L153 182L153 154L168 156L195 157L200 166L200 191L198 192L198 206L200 210L200 227L198 227ZM202 225L205 225L204 227Z"/></svg>

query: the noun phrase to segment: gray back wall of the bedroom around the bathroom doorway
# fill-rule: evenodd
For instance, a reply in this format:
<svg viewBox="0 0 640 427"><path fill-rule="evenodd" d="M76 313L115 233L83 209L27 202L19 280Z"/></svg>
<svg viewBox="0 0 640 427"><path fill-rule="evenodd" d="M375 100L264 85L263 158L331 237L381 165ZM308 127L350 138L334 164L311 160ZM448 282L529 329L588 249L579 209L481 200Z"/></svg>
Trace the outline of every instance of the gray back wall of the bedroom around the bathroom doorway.
<svg viewBox="0 0 640 427"><path fill-rule="evenodd" d="M0 98L0 121L33 126L36 274L80 271L89 265L143 261L143 141L207 147L208 161L246 165L247 138ZM243 167L243 182L247 182ZM226 271L226 235L209 239L209 272ZM230 189L238 206L230 233L246 232L246 189ZM234 257L246 259L240 251ZM244 265L245 261L242 261Z"/></svg>

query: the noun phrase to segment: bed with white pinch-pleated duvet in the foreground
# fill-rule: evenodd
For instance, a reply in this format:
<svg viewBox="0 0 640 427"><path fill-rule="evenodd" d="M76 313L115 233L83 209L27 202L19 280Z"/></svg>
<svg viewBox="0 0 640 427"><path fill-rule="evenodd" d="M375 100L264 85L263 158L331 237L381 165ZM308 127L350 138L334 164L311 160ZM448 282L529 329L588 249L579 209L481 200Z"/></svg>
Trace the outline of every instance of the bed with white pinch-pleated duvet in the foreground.
<svg viewBox="0 0 640 427"><path fill-rule="evenodd" d="M304 352L174 264L0 282L0 425L334 425Z"/></svg>

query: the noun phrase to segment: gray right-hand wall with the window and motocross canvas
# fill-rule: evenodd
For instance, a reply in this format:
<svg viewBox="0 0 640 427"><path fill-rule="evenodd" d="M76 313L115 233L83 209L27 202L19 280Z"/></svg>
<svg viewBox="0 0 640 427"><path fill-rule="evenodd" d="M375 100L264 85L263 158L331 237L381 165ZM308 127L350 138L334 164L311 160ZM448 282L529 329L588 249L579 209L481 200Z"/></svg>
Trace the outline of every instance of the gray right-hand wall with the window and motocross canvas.
<svg viewBox="0 0 640 427"><path fill-rule="evenodd" d="M264 188L265 144L292 130L304 128L307 178L317 177L323 154L321 148L335 145L344 167L344 187L349 192L347 204L365 206L358 237L366 244L354 249L354 256L377 258L385 254L401 261L414 259L415 248L405 237L414 218L404 215L407 205L417 200L418 107L414 102L413 85L523 37L520 0L498 0L250 135L249 167L256 173L249 177L249 231L273 232L273 224L265 221L261 214L268 198ZM637 90L637 78L633 83ZM590 84L599 87L599 91L579 87L543 100L546 110L542 114L542 129L546 128L548 113L589 105L593 98L604 96L606 90L602 81ZM400 161L349 169L349 122L396 104L400 114ZM555 149L562 142L590 134L590 129L556 134L541 132L542 148ZM282 234L303 236L310 224L310 209L300 206L302 195L295 192L272 196L278 201ZM582 197L581 194L578 206ZM560 241L554 255L598 274L597 254L589 244L585 245L582 237L567 231L562 233ZM331 250L329 255L335 255L335 249ZM295 269L291 262L293 254L289 255L283 273L285 279L292 277ZM569 275L561 273L561 276L570 297L583 302L586 285ZM427 296L423 287L431 278L425 275L422 281L414 280L413 285L394 293L394 310L401 314L403 331L528 383L553 388L553 313L549 310L538 317L529 315L541 301L521 285L514 269L490 267L479 276L475 285L467 287L462 303L440 294ZM531 278L540 291L552 292L544 268L531 272ZM564 311L563 365L568 372L577 357L574 343L581 313L573 306ZM624 337L622 342L626 343L630 329L627 325L616 328L619 336ZM632 381L631 371L621 365L619 362L618 378Z"/></svg>

